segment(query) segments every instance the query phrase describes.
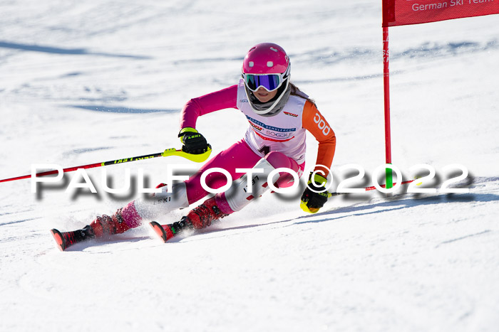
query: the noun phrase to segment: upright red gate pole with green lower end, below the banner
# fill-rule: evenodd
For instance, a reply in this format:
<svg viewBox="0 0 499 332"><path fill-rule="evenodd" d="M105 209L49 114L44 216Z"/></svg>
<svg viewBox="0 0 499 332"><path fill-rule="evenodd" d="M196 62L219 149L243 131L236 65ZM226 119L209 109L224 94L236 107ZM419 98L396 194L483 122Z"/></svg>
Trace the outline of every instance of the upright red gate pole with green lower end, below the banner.
<svg viewBox="0 0 499 332"><path fill-rule="evenodd" d="M391 133L390 133L390 69L388 48L388 26L383 27L383 87L385 100L385 155L386 164L391 164ZM386 188L393 187L391 168L386 168Z"/></svg>

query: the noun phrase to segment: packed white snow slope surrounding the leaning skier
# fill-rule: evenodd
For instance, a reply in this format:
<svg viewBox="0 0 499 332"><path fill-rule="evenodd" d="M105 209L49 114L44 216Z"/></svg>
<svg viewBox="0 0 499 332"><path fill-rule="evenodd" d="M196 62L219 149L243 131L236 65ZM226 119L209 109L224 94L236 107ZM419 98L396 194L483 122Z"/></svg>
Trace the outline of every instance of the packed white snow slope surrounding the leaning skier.
<svg viewBox="0 0 499 332"><path fill-rule="evenodd" d="M126 168L148 187L178 157L88 170L31 193L0 183L0 331L498 331L499 16L390 29L393 164L428 164L436 193L331 198L316 215L267 194L163 244L148 225L56 249L140 197L103 191ZM236 84L255 43L282 45L292 80L336 132L334 186L384 164L381 1L0 2L0 178L179 147L180 109ZM201 117L216 154L237 110ZM317 142L309 137L307 165ZM441 193L441 183L469 173ZM83 180L80 178L81 181ZM78 181L78 179L76 179ZM171 223L186 210L164 215Z"/></svg>

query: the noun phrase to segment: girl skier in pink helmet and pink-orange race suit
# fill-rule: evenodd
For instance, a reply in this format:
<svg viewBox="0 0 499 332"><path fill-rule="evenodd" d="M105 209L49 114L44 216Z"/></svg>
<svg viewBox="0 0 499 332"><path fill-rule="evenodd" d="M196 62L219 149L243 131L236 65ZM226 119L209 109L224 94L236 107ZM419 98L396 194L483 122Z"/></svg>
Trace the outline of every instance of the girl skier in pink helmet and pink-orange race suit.
<svg viewBox="0 0 499 332"><path fill-rule="evenodd" d="M290 168L302 176L307 130L319 141L319 149L316 166L310 174L300 206L307 212L316 213L328 197L324 184L327 168L331 166L334 156L336 137L314 101L289 82L289 70L289 57L279 45L259 43L252 47L242 63L239 84L194 98L185 104L178 134L182 151L205 153L210 145L195 129L197 117L220 109L235 108L249 122L244 139L207 161L187 181L175 183L172 188L163 184L158 186L162 191L153 193L153 199L134 200L114 215L97 217L83 230L62 234L53 230L61 249L86 238L119 234L138 227L143 220L153 220L172 210L187 208L208 194L201 186L203 172L210 168L223 168L233 179L237 179L228 191L208 198L176 223L163 226L151 223L165 242L185 229L207 227L212 221L241 210L254 197L267 191L267 182L259 179L267 179L275 169ZM237 172L236 168L260 168L263 173L252 173L252 179L248 182L247 174ZM292 186L293 181L289 173L282 172L274 186L286 188ZM216 189L224 186L227 180L225 176L221 178L220 173L213 172L206 177L206 183ZM251 193L248 192L248 183L257 183Z"/></svg>

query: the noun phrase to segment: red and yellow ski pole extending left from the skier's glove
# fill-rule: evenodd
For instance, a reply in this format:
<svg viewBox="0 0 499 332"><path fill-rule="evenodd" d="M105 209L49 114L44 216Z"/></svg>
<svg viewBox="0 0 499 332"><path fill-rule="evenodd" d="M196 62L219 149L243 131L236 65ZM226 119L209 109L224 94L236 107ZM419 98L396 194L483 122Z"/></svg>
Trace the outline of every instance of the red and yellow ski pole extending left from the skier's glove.
<svg viewBox="0 0 499 332"><path fill-rule="evenodd" d="M158 152L157 154L146 154L145 156L136 156L136 157L125 158L125 159L116 159L116 160L111 160L111 161L104 161L102 163L96 163L96 164L88 164L88 165L82 165L82 166L63 168L63 173L76 171L78 168L84 168L84 169L94 168L94 167L109 166L109 165L115 165L115 164L123 164L123 163L128 163L130 161L138 161L138 160L143 160L143 159L151 159L151 158L156 158L156 157L168 157L168 156L180 156L180 157L188 159L190 161L195 161L196 163L202 163L203 161L208 159L211 152L212 152L211 146L209 146L207 151L205 153L202 153L202 154L187 154L187 152L172 148L172 149L166 149L163 152ZM57 174L57 173L58 173L57 170L45 171L45 172L41 172L41 173L36 173L35 176L47 176L47 175L52 175L52 174ZM4 178L3 180L0 180L0 182L21 180L23 178L31 178L31 174L25 175L25 176L16 176L15 178Z"/></svg>

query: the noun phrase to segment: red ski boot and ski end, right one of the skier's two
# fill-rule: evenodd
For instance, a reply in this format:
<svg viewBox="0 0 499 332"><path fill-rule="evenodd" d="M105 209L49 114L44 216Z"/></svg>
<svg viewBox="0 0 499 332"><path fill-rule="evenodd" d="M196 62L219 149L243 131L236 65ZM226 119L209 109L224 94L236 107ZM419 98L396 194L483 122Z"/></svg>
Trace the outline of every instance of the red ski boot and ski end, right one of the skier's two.
<svg viewBox="0 0 499 332"><path fill-rule="evenodd" d="M212 221L226 216L227 215L222 213L220 208L218 208L217 203L215 202L215 197L212 197L205 200L205 203L197 206L197 208L190 210L187 215L182 217L182 219L176 223L160 225L159 223L153 221L149 224L153 227L156 234L163 239L163 242L167 242L172 237L184 232L185 230L200 230L210 226Z"/></svg>

